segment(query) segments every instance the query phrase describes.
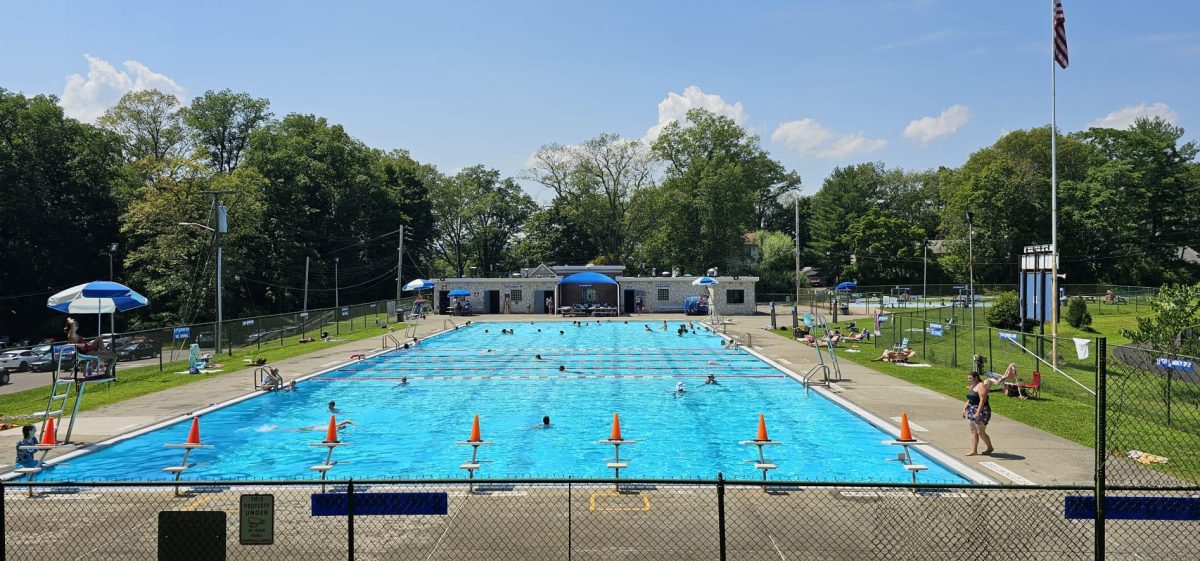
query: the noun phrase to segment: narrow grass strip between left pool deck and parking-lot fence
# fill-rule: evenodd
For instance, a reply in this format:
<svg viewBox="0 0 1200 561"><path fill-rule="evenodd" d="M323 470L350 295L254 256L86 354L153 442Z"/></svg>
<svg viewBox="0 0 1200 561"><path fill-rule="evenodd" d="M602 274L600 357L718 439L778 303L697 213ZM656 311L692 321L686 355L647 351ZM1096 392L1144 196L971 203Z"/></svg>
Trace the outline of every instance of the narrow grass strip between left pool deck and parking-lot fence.
<svg viewBox="0 0 1200 561"><path fill-rule="evenodd" d="M326 331L332 331L332 324L324 327ZM404 324L394 324L397 331L404 327ZM308 336L311 337L313 332L319 333L322 328L308 330ZM337 338L346 339L347 342L361 340L371 337L380 337L385 331L373 326L365 325L355 330L347 330L343 325L341 333ZM320 343L300 343L299 339L302 334L287 337L283 339L281 345L278 339L271 340L271 345L264 345L263 349L256 346L246 346L242 349L235 349L233 356L228 354L222 354L215 357L215 361L224 364L223 372L218 374L210 375L187 375L176 374L187 369L187 361L173 361L163 362L162 372L158 369L158 364L144 366L130 369L118 368L118 382L113 384L100 384L89 385L88 392L84 397L83 403L79 405L80 411L86 411L90 409L96 409L100 406L124 402L126 399L133 399L136 397L146 396L155 392L161 392L163 390L169 390L178 386L184 386L187 384L198 382L200 380L208 380L214 376L224 376L234 374L238 372L245 372L247 369L254 368L254 364L246 364L245 360L251 361L256 358L265 358L268 363L278 362L286 358L292 358L318 350L325 349L326 344ZM184 354L186 357L186 352ZM25 390L22 392L8 393L0 396L0 411L6 411L6 422L30 422L35 417L31 415L34 411L46 410L46 403L49 398L49 387L35 387ZM68 398L66 408L73 408L74 399Z"/></svg>

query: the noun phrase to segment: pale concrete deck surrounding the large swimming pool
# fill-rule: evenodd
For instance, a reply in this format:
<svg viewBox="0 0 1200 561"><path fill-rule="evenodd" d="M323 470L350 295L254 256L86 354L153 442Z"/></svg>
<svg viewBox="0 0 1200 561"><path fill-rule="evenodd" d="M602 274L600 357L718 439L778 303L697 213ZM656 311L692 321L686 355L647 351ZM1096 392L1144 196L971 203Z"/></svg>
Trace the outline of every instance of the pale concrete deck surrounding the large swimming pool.
<svg viewBox="0 0 1200 561"><path fill-rule="evenodd" d="M418 337L425 338L442 331L443 316L431 316L416 328ZM577 318L547 315L481 315L470 318L482 321L574 321ZM624 321L626 318L607 319ZM628 318L630 321L679 321L678 314L644 314ZM697 320L698 318L690 318ZM734 316L734 322L725 326L730 334L743 336L749 346L770 358L780 367L803 375L816 363L816 350L760 327L769 322L762 315ZM456 319L460 322L461 319ZM350 355L382 350L379 340L371 338L353 343L326 346L304 356L272 363L284 379L320 372L350 362ZM1086 484L1092 481L1094 453L1091 448L1044 433L1000 415L992 416L989 434L996 445L992 456L966 457L968 433L960 412L962 402L930 390L907 384L904 380L877 373L851 361L841 361L844 380L833 391L842 398L886 421L899 424L901 412L908 414L914 436L958 458L968 466L1001 483L1037 484ZM92 444L119 434L149 427L158 422L222 403L253 391L251 370L215 375L182 387L142 396L126 402L83 411L76 422L72 441ZM59 429L64 434L65 427ZM0 450L11 451L20 438L19 429L0 432ZM62 450L59 453L66 453ZM11 462L6 452L0 465Z"/></svg>

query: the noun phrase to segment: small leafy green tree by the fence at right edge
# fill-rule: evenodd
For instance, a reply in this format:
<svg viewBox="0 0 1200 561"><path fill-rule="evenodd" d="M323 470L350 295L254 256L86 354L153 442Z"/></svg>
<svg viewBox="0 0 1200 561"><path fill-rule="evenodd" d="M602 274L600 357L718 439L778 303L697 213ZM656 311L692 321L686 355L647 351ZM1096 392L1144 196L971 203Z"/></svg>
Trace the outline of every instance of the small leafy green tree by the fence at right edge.
<svg viewBox="0 0 1200 561"><path fill-rule="evenodd" d="M1168 284L1150 301L1138 327L1121 330L1135 344L1175 355L1200 356L1200 284ZM1190 337L1189 337L1190 336Z"/></svg>

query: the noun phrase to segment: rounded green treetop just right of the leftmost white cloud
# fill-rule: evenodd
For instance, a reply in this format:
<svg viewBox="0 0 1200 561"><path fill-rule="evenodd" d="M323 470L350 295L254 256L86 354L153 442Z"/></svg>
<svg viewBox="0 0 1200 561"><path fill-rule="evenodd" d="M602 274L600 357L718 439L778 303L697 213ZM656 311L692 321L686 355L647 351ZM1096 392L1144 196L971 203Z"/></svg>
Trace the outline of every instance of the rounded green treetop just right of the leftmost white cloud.
<svg viewBox="0 0 1200 561"><path fill-rule="evenodd" d="M228 89L205 91L184 109L192 141L214 170L228 174L241 162L250 134L271 117L270 102Z"/></svg>

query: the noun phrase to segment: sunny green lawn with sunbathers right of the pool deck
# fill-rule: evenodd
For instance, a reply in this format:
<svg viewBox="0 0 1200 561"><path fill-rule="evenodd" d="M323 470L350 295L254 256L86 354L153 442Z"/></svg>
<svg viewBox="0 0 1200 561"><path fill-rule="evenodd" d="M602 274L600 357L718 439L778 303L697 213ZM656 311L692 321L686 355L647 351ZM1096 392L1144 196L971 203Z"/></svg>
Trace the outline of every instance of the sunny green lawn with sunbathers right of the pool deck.
<svg viewBox="0 0 1200 561"><path fill-rule="evenodd" d="M1092 308L1093 306L1090 306ZM1115 308L1115 309L1114 309ZM1080 360L1075 355L1072 337L1094 339L1105 337L1109 343L1108 369L1108 448L1110 453L1124 453L1140 450L1171 458L1169 464L1156 464L1151 468L1172 476L1200 481L1200 418L1195 415L1200 406L1200 387L1194 384L1175 381L1171 386L1171 399L1175 414L1168 426L1165 406L1165 378L1154 373L1138 372L1128 366L1111 361L1114 346L1129 343L1120 331L1130 328L1136 322L1133 306L1112 307L1104 304L1104 313L1092 309L1090 328L1070 327L1066 322L1058 327L1058 368L1078 380L1087 390L1096 388L1096 345L1090 345L1091 357ZM991 370L1003 370L1009 362L1018 364L1022 380L1030 380L1033 369L1042 374L1040 399L1008 399L995 394L992 409L1014 421L1045 430L1084 446L1096 446L1094 397L1084 387L1039 364L1021 349L1000 340L997 330L989 330L984 310L976 315L977 352L988 355ZM948 326L954 318L953 326ZM872 343L851 344L850 348L863 352L840 352L839 358L864 364L881 373L910 381L938 393L964 399L966 392L966 373L971 368L971 331L970 309L930 309L930 322L941 322L944 336L934 337L926 328L925 312L914 314L893 314L892 321L883 325L882 336ZM790 330L778 330L778 333L790 337ZM955 345L955 336L958 338ZM890 349L901 338L908 338L908 346L917 351L914 361L932 364L930 368L907 368L886 362L871 362L883 349ZM1037 351L1038 337L1027 334L1024 345ZM1050 355L1049 337L1044 339L1044 352ZM985 364L988 366L988 364Z"/></svg>

